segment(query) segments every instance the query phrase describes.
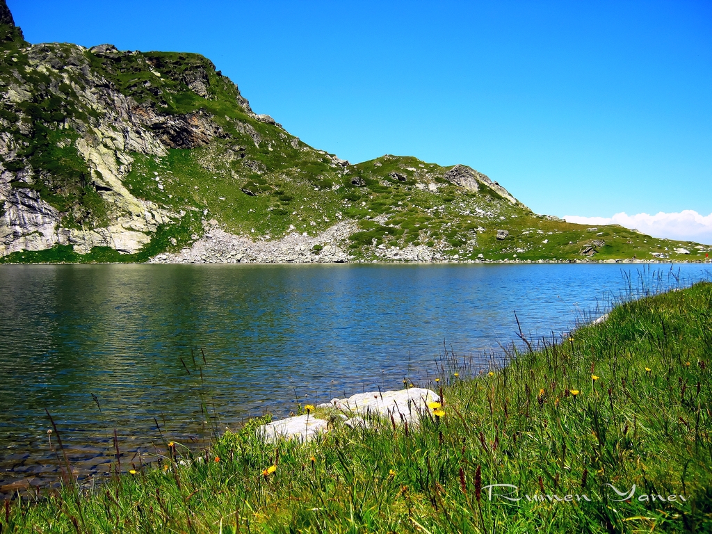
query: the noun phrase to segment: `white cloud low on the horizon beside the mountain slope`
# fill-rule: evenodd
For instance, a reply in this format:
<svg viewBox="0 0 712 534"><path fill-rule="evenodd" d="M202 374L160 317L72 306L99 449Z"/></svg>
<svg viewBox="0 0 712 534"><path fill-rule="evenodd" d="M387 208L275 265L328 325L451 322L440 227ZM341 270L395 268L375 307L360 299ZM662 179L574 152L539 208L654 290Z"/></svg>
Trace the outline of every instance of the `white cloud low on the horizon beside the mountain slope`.
<svg viewBox="0 0 712 534"><path fill-rule="evenodd" d="M564 220L589 226L620 224L625 228L636 229L653 237L712 244L712 213L708 216L703 216L691 209L685 209L680 213L664 213L661 211L656 215L646 213L628 215L624 212L617 213L612 217L566 215Z"/></svg>

